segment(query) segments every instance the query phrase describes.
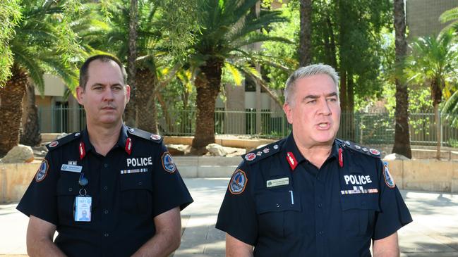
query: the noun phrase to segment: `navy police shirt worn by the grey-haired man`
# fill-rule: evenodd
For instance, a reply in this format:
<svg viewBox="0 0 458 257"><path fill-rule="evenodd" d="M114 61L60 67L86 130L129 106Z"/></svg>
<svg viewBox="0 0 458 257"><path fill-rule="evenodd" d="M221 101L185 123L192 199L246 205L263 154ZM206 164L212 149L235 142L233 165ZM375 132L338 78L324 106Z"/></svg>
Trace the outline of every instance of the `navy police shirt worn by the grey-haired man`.
<svg viewBox="0 0 458 257"><path fill-rule="evenodd" d="M243 156L216 227L254 256L370 256L372 239L412 221L379 156L336 139L318 169L290 134Z"/></svg>

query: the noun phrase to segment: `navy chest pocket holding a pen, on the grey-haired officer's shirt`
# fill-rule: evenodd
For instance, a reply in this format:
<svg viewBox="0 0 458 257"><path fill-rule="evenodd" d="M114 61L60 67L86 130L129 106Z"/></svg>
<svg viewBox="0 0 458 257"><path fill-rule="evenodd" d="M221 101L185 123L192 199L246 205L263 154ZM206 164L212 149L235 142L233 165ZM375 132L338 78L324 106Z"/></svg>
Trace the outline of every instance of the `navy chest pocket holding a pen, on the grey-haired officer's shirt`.
<svg viewBox="0 0 458 257"><path fill-rule="evenodd" d="M261 234L268 237L285 237L295 231L294 222L287 218L294 213L300 215L299 194L290 191L258 192L255 195L258 227Z"/></svg>

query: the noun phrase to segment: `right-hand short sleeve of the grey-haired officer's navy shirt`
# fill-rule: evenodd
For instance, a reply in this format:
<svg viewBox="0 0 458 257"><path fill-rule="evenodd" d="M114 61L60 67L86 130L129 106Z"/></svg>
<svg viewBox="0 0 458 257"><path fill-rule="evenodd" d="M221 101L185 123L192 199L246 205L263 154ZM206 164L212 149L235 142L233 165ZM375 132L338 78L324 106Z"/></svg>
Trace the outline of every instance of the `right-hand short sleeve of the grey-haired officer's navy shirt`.
<svg viewBox="0 0 458 257"><path fill-rule="evenodd" d="M397 232L404 225L412 222L409 209L402 199L394 178L390 175L387 163L378 160L380 213L375 221L373 239L378 240Z"/></svg>

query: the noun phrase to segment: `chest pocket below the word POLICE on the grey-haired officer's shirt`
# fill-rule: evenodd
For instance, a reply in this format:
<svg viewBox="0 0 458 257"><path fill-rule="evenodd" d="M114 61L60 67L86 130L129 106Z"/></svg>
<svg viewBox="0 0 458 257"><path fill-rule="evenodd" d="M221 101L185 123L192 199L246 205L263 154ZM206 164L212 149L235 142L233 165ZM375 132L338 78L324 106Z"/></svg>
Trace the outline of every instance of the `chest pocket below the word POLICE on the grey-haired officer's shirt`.
<svg viewBox="0 0 458 257"><path fill-rule="evenodd" d="M350 238L372 237L375 213L380 212L378 194L342 195L342 228Z"/></svg>

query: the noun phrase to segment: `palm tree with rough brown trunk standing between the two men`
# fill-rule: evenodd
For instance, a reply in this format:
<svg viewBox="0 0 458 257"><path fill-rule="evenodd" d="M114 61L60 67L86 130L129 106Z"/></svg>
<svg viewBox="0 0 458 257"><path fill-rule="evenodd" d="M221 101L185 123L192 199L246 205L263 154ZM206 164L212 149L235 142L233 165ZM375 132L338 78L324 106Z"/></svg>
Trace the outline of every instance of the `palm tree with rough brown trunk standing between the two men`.
<svg viewBox="0 0 458 257"><path fill-rule="evenodd" d="M267 40L284 40L259 33L270 24L286 20L278 11L260 11L257 16L251 10L258 0L207 0L200 12L203 28L196 33L191 46L189 63L195 68L194 85L197 91L197 119L193 148L202 149L215 142L215 102L221 86L224 63L236 60L253 67L248 48ZM253 71L253 70L252 70Z"/></svg>

